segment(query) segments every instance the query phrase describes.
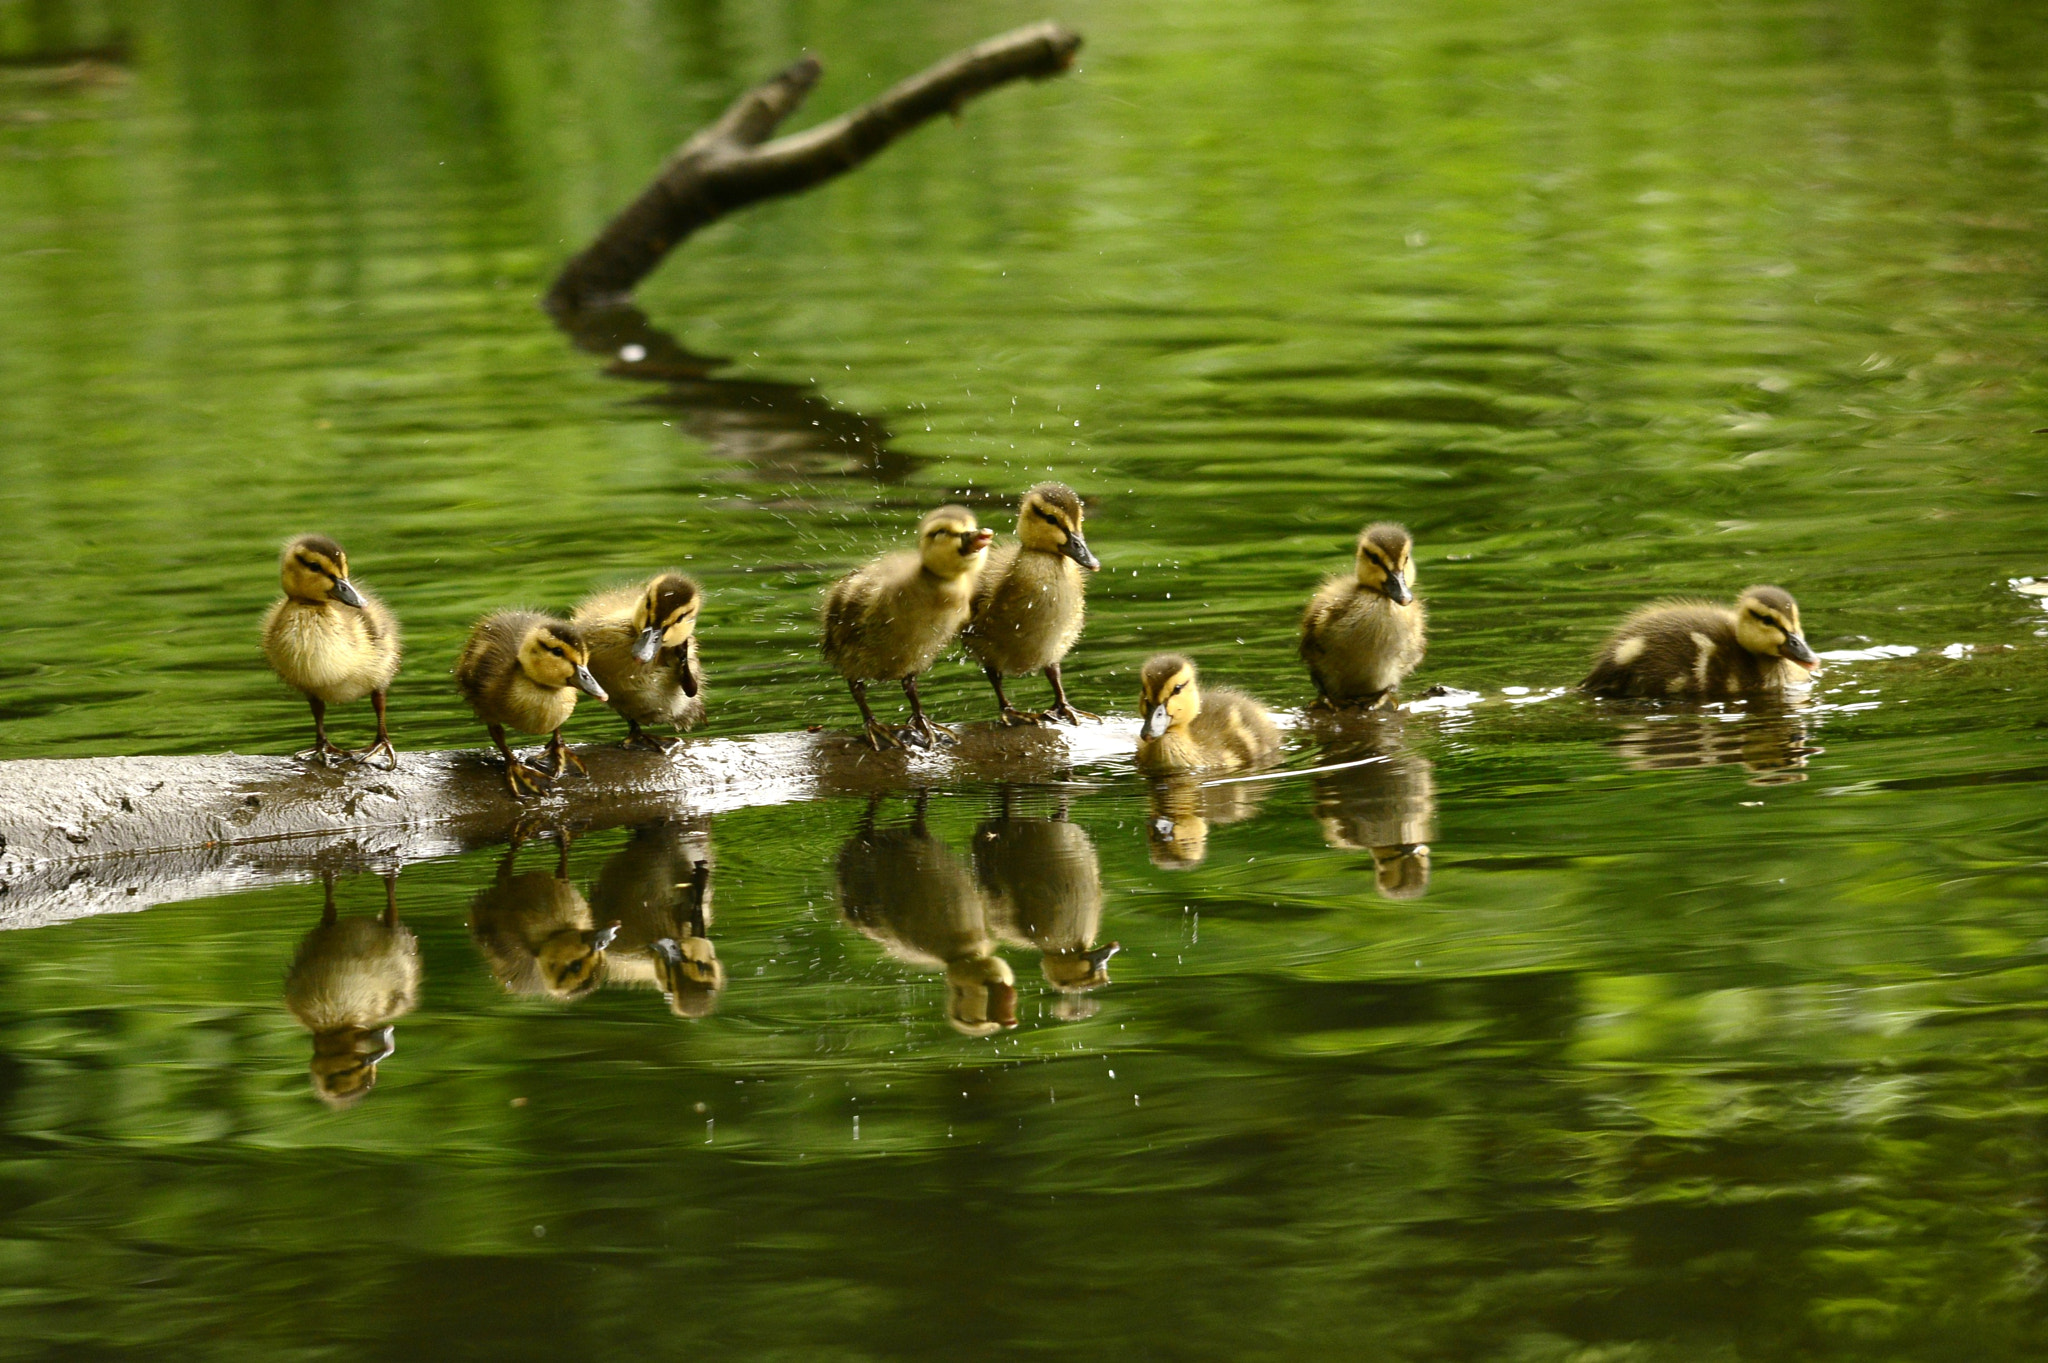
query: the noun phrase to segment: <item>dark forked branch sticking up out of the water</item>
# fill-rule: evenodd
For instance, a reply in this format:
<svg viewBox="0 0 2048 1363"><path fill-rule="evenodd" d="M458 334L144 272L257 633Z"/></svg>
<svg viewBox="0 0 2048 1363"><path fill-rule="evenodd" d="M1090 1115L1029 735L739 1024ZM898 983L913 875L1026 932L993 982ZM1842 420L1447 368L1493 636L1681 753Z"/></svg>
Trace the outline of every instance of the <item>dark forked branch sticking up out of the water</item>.
<svg viewBox="0 0 2048 1363"><path fill-rule="evenodd" d="M823 184L926 119L956 113L983 90L1057 76L1079 47L1081 35L1055 23L1016 29L946 57L829 123L766 141L817 84L823 68L807 55L682 143L639 199L561 268L547 291L547 307L561 315L618 301L698 227L750 203Z"/></svg>

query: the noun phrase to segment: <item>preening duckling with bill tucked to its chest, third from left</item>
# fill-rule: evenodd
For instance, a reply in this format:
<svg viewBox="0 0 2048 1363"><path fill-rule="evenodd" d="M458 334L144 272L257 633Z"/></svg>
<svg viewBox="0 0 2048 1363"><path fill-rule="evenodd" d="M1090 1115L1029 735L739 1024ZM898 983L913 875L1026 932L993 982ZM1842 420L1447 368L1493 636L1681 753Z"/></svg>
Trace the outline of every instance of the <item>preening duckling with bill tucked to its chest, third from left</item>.
<svg viewBox="0 0 2048 1363"><path fill-rule="evenodd" d="M705 718L705 673L696 665L700 604L696 583L670 569L641 587L592 593L569 616L590 645L590 673L627 722L627 747L668 753L678 739L657 739L641 724L684 731Z"/></svg>

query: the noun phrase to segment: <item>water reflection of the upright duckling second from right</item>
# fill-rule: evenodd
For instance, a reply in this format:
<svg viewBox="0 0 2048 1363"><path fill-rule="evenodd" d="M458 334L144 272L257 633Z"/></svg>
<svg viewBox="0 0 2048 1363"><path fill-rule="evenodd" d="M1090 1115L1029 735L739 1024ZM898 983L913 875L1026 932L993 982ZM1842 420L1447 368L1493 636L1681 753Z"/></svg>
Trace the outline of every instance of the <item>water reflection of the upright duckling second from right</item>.
<svg viewBox="0 0 2048 1363"><path fill-rule="evenodd" d="M1325 770L1309 782L1315 821L1331 847L1372 853L1372 884L1384 898L1421 898L1430 888L1436 837L1436 774L1430 759L1401 747L1401 729L1323 749ZM1339 765L1362 763L1362 765Z"/></svg>

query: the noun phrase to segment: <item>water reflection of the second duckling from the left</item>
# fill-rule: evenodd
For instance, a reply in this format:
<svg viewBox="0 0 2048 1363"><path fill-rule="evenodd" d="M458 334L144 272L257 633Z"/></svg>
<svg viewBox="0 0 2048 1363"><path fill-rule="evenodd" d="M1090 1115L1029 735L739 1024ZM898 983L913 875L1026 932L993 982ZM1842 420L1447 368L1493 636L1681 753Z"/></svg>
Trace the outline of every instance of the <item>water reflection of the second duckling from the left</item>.
<svg viewBox="0 0 2048 1363"><path fill-rule="evenodd" d="M469 905L469 935L508 993L582 999L604 974L604 950L618 923L598 927L569 884L567 835L553 872L514 874L516 860L514 841L498 862L496 880Z"/></svg>

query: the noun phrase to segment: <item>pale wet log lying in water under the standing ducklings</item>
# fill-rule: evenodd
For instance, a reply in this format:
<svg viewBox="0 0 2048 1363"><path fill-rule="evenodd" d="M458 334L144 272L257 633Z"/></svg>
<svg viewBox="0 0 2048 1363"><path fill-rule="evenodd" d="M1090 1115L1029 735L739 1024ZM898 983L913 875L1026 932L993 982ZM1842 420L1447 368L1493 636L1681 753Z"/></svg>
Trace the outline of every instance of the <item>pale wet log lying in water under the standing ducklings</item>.
<svg viewBox="0 0 2048 1363"><path fill-rule="evenodd" d="M403 753L397 772L238 753L0 761L0 929L387 872L549 829L940 782L1069 782L1075 765L1128 755L1133 733L963 727L934 753L874 753L844 733L696 739L668 757L580 747L590 780L537 800L514 800L485 751Z"/></svg>

